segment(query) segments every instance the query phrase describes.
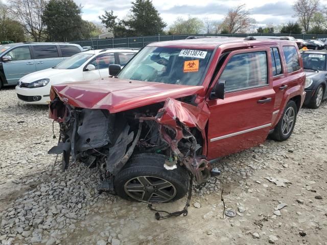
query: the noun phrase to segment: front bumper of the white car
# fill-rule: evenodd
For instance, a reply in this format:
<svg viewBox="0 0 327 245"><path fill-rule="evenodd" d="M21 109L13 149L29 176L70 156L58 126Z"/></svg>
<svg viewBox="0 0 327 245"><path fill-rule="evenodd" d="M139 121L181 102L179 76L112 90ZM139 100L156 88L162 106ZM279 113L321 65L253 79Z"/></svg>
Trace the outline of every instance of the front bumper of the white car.
<svg viewBox="0 0 327 245"><path fill-rule="evenodd" d="M16 93L19 100L28 104L48 105L50 101L49 88L20 88L16 86Z"/></svg>

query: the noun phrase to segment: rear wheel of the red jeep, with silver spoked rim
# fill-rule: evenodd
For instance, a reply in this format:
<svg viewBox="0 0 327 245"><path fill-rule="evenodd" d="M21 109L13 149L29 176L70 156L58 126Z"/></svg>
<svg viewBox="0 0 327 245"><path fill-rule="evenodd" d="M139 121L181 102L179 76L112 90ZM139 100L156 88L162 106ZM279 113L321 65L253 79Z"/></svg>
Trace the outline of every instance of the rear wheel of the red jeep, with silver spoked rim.
<svg viewBox="0 0 327 245"><path fill-rule="evenodd" d="M289 116L286 115L286 113L288 113ZM293 121L291 121L292 116L289 113L292 113ZM278 124L276 125L274 132L271 135L272 138L277 141L287 140L293 132L295 122L296 122L296 116L297 116L297 106L294 101L290 100L287 103L285 110L283 112L283 115L282 115L281 119L279 119ZM293 124L291 124L291 122L293 122ZM287 127L287 125L288 125L288 127Z"/></svg>

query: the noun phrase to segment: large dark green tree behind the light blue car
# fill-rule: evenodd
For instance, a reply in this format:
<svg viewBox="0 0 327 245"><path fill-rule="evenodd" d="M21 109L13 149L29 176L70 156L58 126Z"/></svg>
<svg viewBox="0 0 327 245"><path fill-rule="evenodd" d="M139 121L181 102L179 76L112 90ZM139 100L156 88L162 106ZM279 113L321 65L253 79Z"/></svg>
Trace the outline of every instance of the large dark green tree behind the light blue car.
<svg viewBox="0 0 327 245"><path fill-rule="evenodd" d="M51 41L72 41L83 35L81 6L73 0L50 0L42 15Z"/></svg>

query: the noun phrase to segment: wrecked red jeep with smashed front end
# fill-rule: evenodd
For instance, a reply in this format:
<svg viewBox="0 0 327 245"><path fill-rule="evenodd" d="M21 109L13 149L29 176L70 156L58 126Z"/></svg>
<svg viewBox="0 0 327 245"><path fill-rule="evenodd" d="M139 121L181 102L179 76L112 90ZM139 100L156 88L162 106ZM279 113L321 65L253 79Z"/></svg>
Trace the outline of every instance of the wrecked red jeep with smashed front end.
<svg viewBox="0 0 327 245"><path fill-rule="evenodd" d="M295 42L199 38L145 46L112 78L51 89L62 169L100 169L99 190L128 200L182 198L211 163L272 138L290 137L305 99Z"/></svg>

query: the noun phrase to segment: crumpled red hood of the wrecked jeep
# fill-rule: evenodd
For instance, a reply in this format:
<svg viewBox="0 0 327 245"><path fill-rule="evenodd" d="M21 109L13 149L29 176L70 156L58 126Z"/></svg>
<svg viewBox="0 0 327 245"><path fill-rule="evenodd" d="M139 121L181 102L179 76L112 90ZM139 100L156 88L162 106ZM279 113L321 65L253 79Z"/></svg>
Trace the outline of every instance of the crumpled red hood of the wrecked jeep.
<svg viewBox="0 0 327 245"><path fill-rule="evenodd" d="M204 90L203 86L186 86L118 78L58 84L52 86L52 89L64 103L81 108L106 109L110 113L163 102L168 97L177 99L197 94ZM51 93L51 100L54 100L53 93Z"/></svg>

